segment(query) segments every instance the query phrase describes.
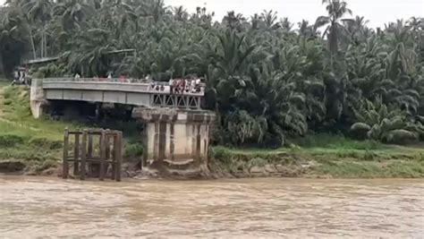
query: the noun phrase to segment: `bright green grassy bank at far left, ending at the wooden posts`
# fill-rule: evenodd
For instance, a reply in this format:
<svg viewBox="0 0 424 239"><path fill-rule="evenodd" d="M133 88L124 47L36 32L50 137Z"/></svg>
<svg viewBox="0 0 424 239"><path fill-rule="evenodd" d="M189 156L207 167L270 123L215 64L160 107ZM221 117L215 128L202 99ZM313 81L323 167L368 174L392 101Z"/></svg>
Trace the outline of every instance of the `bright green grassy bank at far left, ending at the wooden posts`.
<svg viewBox="0 0 424 239"><path fill-rule="evenodd" d="M0 86L0 170L48 174L60 165L64 127L76 125L35 120L29 90Z"/></svg>

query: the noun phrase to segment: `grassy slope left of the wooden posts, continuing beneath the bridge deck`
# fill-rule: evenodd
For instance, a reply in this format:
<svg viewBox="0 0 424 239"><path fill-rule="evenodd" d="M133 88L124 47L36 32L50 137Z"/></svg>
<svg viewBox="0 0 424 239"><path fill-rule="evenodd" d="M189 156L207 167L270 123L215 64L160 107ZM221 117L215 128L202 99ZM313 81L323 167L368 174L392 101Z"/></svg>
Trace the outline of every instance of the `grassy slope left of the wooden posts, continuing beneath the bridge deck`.
<svg viewBox="0 0 424 239"><path fill-rule="evenodd" d="M34 119L30 113L30 90L23 86L0 86L0 166L3 162L20 162L25 171L39 174L62 160L64 129L109 128L124 132L124 156L140 160L142 144L136 123L85 125L78 122ZM0 168L1 169L1 168Z"/></svg>

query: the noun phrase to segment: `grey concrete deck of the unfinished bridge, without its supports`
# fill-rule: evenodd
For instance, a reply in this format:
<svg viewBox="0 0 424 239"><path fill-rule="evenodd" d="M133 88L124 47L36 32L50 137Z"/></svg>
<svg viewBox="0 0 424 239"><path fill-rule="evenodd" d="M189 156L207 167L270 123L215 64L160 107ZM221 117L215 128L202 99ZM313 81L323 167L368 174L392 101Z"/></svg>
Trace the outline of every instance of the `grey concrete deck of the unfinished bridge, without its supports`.
<svg viewBox="0 0 424 239"><path fill-rule="evenodd" d="M173 93L166 82L95 78L52 78L35 80L32 87L43 90L47 100L76 100L117 103L142 107L200 109L205 85L199 92ZM159 87L157 90L157 85Z"/></svg>

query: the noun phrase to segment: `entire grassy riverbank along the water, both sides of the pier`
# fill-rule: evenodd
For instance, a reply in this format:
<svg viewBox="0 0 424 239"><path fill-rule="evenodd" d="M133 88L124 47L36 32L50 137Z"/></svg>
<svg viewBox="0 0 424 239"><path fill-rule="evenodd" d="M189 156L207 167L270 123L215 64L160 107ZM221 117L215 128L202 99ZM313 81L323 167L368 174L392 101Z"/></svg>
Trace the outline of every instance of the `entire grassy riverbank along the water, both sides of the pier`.
<svg viewBox="0 0 424 239"><path fill-rule="evenodd" d="M30 115L29 91L0 86L0 172L29 175L60 174L65 127L87 127L72 121L35 120ZM137 132L131 130L131 132ZM126 135L125 159L133 166L142 148ZM131 159L132 158L132 159ZM136 160L133 160L133 159ZM227 149L212 147L213 177L424 177L424 148L352 141L341 135L310 135L290 149ZM125 175L137 175L127 167Z"/></svg>

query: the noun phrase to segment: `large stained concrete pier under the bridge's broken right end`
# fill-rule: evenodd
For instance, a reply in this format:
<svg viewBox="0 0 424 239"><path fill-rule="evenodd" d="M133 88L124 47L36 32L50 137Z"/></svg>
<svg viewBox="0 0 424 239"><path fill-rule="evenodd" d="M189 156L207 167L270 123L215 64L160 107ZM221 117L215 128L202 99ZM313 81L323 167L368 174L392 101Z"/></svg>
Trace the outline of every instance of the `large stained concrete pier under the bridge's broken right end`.
<svg viewBox="0 0 424 239"><path fill-rule="evenodd" d="M136 108L132 116L144 129L143 169L158 173L199 173L208 167L209 111Z"/></svg>

